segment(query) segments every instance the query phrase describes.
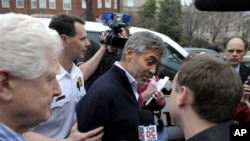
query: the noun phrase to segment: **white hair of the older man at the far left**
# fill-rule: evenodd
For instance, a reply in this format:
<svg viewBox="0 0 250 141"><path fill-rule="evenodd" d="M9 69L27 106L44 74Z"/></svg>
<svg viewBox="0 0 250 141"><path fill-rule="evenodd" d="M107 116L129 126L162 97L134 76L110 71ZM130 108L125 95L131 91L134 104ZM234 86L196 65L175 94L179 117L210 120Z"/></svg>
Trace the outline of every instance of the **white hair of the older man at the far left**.
<svg viewBox="0 0 250 141"><path fill-rule="evenodd" d="M60 53L58 33L24 14L0 15L0 67L13 76L32 80L48 66L48 53Z"/></svg>

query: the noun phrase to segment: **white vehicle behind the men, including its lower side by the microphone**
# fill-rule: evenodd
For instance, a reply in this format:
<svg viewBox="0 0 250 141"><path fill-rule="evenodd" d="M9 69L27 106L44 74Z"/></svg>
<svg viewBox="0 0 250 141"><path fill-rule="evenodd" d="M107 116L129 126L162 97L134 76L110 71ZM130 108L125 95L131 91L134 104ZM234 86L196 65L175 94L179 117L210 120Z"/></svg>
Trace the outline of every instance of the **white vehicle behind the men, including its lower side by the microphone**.
<svg viewBox="0 0 250 141"><path fill-rule="evenodd" d="M43 22L46 26L50 23L50 18L38 18L41 22ZM89 22L86 21L85 29L87 31L87 36L89 39L94 40L96 42L100 41L100 34L102 31L110 30L110 28L103 23L98 22ZM160 77L168 76L170 80L173 80L176 72L179 70L179 67L182 61L188 56L188 52L183 49L178 43L170 39L168 36L161 34L159 32L155 32L152 30L148 30L145 28L138 28L138 27L130 27L129 28L130 34L133 34L138 31L149 31L152 32L163 39L165 42L166 48L168 53L166 56L162 57L161 65L159 68ZM169 94L170 91L164 91L165 94ZM169 96L166 96L167 104L161 110L162 120L167 127L168 139L183 139L182 131L172 125L170 116L169 116ZM157 120L157 119L156 119Z"/></svg>

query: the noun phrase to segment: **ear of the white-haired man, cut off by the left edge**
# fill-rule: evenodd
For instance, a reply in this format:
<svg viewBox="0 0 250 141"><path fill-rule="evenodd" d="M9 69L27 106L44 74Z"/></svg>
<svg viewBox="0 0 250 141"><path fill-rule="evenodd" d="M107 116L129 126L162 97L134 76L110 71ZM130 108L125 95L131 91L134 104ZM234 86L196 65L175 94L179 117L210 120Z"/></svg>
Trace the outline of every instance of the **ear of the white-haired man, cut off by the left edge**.
<svg viewBox="0 0 250 141"><path fill-rule="evenodd" d="M0 68L0 100L9 101L11 98L10 74L6 70Z"/></svg>

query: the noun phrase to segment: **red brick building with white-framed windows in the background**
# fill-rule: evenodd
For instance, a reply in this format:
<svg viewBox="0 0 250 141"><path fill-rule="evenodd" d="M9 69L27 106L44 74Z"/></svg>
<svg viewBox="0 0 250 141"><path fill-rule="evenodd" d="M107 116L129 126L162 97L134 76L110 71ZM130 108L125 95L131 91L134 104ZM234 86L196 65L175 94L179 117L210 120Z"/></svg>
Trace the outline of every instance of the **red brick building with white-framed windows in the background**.
<svg viewBox="0 0 250 141"><path fill-rule="evenodd" d="M87 0L88 1L88 0ZM89 0L93 17L104 12L120 12L120 0ZM57 13L86 16L86 0L1 0L0 13L23 13L38 17L50 17Z"/></svg>

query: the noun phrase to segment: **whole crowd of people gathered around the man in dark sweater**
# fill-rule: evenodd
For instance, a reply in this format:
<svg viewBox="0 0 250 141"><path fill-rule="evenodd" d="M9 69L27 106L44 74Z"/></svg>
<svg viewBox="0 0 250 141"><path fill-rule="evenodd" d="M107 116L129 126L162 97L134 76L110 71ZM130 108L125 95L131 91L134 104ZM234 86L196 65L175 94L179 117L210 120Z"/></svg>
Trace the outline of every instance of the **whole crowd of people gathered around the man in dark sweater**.
<svg viewBox="0 0 250 141"><path fill-rule="evenodd" d="M127 42L117 48L89 41L85 21L70 14L49 27L24 14L0 20L0 140L136 141L141 111L166 105L156 82L167 52L155 34L122 28ZM250 122L247 46L233 36L226 61L199 54L181 65L169 108L186 140L229 140L230 125Z"/></svg>

